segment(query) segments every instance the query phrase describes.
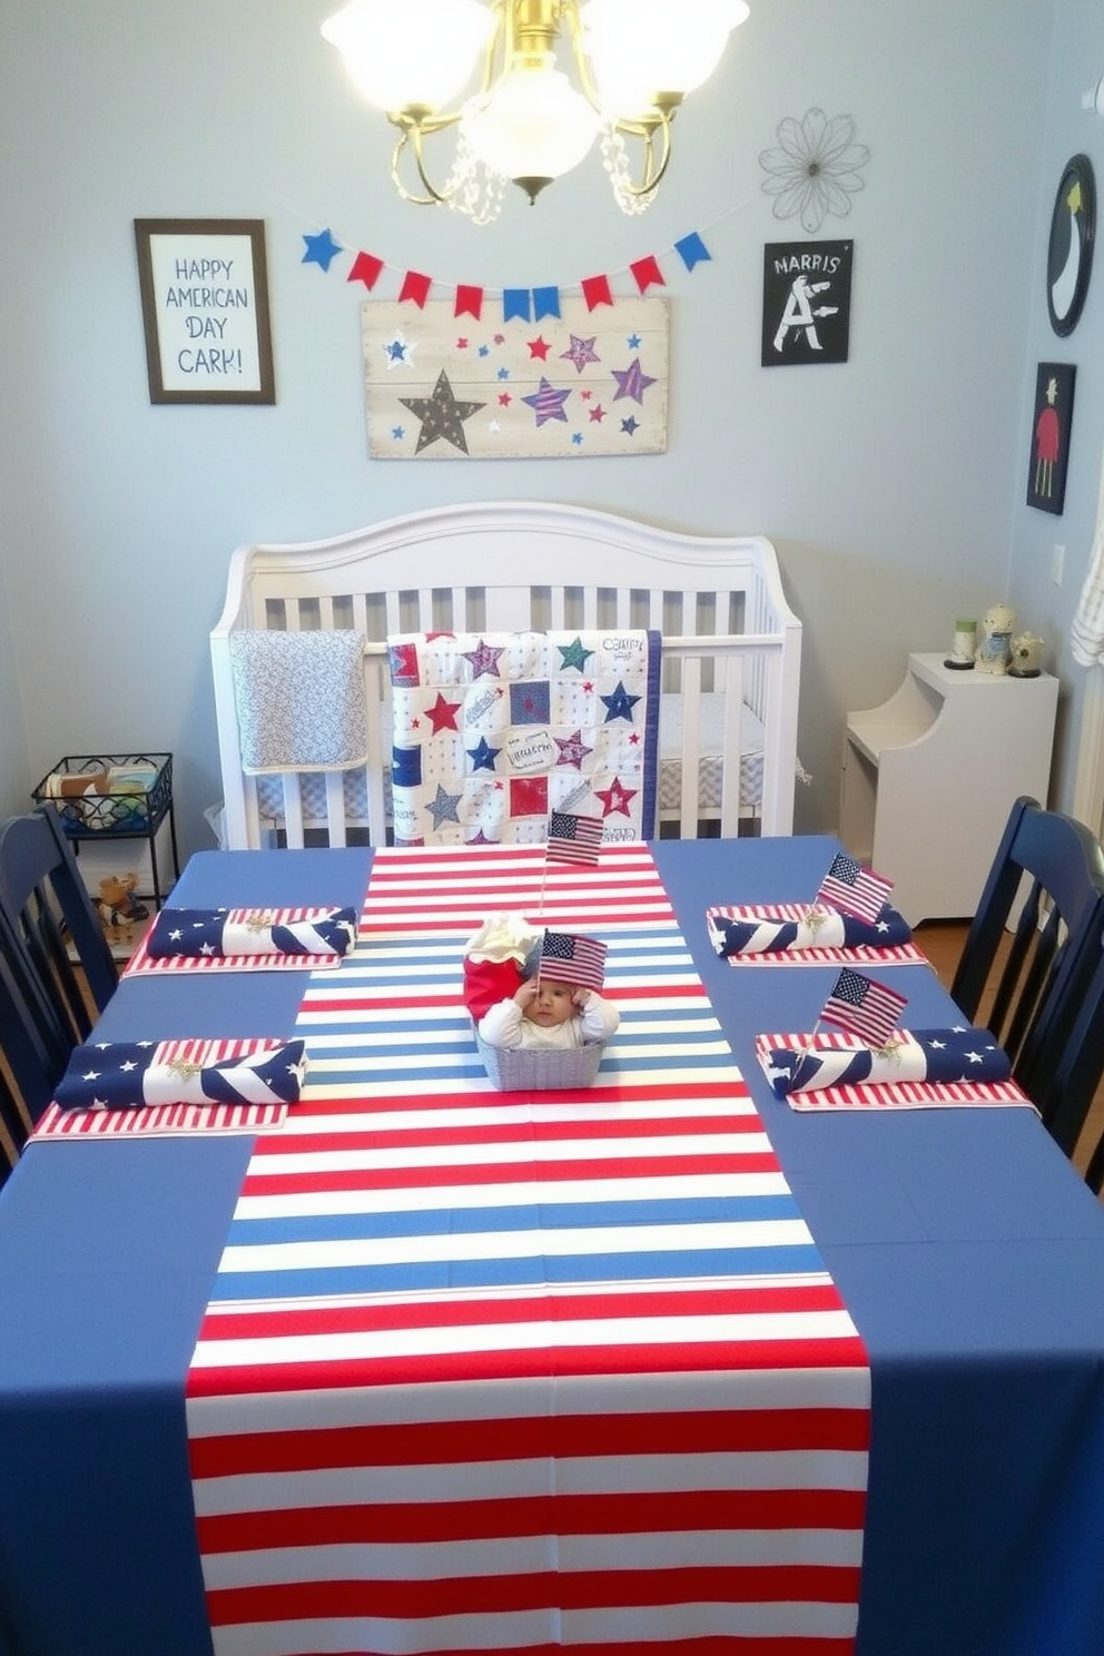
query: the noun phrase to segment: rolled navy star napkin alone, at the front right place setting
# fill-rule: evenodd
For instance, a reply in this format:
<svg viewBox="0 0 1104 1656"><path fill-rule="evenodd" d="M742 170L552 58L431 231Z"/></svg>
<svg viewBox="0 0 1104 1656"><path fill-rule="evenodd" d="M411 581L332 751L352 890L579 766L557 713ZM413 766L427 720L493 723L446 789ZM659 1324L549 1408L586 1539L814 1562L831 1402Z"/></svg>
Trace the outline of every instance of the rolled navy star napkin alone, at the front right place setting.
<svg viewBox="0 0 1104 1656"><path fill-rule="evenodd" d="M1008 1055L988 1030L897 1030L884 1047L849 1035L809 1035L801 1047L765 1047L760 1063L776 1098L826 1086L900 1081L1006 1081Z"/></svg>

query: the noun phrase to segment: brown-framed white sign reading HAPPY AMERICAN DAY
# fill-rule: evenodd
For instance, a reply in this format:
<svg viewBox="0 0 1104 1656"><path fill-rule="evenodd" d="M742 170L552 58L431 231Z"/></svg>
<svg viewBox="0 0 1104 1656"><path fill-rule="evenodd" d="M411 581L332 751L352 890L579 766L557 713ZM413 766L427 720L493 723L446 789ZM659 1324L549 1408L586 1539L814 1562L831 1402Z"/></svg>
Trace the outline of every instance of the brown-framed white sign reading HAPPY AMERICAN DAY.
<svg viewBox="0 0 1104 1656"><path fill-rule="evenodd" d="M262 219L136 219L151 402L275 402Z"/></svg>

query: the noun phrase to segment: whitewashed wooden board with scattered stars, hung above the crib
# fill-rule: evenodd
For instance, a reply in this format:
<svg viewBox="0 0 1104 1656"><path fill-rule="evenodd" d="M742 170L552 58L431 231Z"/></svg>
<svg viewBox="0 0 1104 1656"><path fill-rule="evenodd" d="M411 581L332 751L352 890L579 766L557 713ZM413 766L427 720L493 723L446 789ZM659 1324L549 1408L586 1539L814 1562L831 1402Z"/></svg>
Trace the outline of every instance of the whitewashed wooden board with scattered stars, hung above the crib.
<svg viewBox="0 0 1104 1656"><path fill-rule="evenodd" d="M602 320L558 288L506 288L490 315L425 300L362 306L367 452L379 460L566 459L664 454L669 315L660 296L619 300ZM655 278L642 272L641 285ZM662 278L660 278L662 282ZM460 290L457 290L460 291Z"/></svg>

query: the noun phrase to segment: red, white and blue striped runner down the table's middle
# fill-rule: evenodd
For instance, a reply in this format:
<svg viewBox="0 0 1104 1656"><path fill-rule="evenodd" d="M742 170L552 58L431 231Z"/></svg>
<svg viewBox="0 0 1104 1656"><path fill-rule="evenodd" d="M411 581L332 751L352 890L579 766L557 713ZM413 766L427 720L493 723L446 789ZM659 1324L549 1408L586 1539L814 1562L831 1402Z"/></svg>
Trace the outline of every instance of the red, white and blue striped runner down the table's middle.
<svg viewBox="0 0 1104 1656"><path fill-rule="evenodd" d="M187 1386L217 1656L846 1656L862 1343L644 846L379 851ZM593 931L598 1085L495 1093L485 914Z"/></svg>

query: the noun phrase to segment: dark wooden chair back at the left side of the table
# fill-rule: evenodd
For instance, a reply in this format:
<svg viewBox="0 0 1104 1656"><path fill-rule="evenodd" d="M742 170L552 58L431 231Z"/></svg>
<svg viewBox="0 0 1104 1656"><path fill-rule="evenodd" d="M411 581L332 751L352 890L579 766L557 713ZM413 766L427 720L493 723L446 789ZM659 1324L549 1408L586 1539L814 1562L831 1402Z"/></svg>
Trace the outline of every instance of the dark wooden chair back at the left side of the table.
<svg viewBox="0 0 1104 1656"><path fill-rule="evenodd" d="M89 1000L103 1010L119 974L51 805L0 828L0 946L56 1083L73 1047L91 1030Z"/></svg>

